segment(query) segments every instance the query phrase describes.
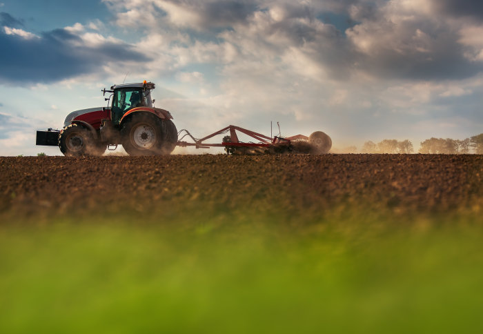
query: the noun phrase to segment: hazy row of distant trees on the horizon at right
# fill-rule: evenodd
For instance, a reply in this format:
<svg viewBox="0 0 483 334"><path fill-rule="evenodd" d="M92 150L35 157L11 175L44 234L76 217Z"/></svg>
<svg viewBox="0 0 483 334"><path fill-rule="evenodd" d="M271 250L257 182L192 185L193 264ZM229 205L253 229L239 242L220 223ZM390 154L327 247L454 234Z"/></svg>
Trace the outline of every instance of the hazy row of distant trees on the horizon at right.
<svg viewBox="0 0 483 334"><path fill-rule="evenodd" d="M366 141L361 153L414 153L414 148L413 143L408 139L404 141L384 139L377 144ZM419 153L483 154L483 133L463 140L432 137L421 142Z"/></svg>

